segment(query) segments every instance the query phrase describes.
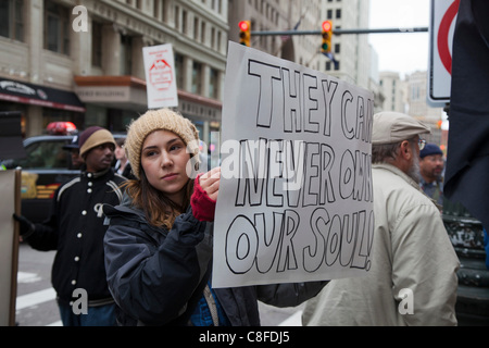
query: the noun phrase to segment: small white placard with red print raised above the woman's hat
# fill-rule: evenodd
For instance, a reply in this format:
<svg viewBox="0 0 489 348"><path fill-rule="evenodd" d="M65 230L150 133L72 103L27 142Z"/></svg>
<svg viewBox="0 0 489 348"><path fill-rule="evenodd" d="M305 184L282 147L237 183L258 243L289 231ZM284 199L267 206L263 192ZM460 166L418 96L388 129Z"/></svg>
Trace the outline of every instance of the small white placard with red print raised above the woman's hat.
<svg viewBox="0 0 489 348"><path fill-rule="evenodd" d="M145 47L148 109L178 107L173 46Z"/></svg>

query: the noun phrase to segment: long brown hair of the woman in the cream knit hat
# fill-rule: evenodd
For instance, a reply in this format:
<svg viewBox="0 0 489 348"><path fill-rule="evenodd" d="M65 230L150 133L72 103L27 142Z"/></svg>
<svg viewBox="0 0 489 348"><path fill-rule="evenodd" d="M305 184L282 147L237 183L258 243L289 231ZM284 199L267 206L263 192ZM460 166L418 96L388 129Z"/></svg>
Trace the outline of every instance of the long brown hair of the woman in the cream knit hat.
<svg viewBox="0 0 489 348"><path fill-rule="evenodd" d="M141 170L140 181L127 181L124 186L133 204L141 209L148 222L156 227L171 229L176 217L187 211L190 197L193 192L193 179L189 178L184 186L184 200L181 207L168 199L163 192L150 185L146 173Z"/></svg>

